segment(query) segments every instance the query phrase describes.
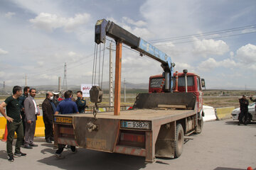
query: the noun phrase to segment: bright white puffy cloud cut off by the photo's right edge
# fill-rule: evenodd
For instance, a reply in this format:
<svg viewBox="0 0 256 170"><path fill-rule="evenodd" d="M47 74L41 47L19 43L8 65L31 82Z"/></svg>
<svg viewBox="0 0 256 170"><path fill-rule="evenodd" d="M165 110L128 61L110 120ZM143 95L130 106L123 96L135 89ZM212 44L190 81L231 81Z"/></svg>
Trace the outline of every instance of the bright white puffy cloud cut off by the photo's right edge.
<svg viewBox="0 0 256 170"><path fill-rule="evenodd" d="M237 50L236 58L242 63L256 63L256 45L247 44Z"/></svg>

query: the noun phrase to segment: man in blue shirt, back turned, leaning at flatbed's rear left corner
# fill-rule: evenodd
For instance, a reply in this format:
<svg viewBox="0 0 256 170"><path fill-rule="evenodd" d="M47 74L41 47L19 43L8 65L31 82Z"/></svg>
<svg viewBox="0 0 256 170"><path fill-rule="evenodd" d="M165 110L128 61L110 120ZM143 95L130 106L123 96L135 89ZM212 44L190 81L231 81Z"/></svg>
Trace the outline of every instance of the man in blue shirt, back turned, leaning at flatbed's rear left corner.
<svg viewBox="0 0 256 170"><path fill-rule="evenodd" d="M78 106L74 101L71 101L72 93L70 91L66 91L65 94L65 100L61 101L56 109L56 112L54 115L58 114L70 114L70 113L79 113L78 112ZM65 145L58 145L58 150L55 152L55 155L57 158L61 159L63 158L61 156L61 153L63 152ZM70 146L73 153L76 153L77 150L75 149L75 146Z"/></svg>

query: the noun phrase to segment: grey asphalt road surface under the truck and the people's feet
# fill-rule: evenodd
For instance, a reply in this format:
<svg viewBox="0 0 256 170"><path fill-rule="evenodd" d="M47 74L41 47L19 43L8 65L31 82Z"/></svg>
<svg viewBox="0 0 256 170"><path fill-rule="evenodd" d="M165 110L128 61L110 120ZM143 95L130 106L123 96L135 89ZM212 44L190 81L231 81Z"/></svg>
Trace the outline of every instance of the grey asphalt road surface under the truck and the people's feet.
<svg viewBox="0 0 256 170"><path fill-rule="evenodd" d="M6 158L6 142L0 142L0 169L215 169L233 170L256 168L256 123L240 125L233 120L204 124L200 135L186 138L183 153L178 159L156 158L154 164L145 164L144 157L111 154L78 149L72 154L65 149L65 159L56 159L53 145L36 138L39 147L21 149L26 157Z"/></svg>

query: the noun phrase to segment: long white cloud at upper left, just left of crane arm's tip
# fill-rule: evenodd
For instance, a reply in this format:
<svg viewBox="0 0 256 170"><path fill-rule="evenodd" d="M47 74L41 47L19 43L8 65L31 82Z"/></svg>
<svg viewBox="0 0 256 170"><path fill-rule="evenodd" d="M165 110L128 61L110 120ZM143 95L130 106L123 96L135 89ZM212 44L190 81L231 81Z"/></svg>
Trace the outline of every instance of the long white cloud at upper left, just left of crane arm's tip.
<svg viewBox="0 0 256 170"><path fill-rule="evenodd" d="M90 20L90 14L75 14L74 18L64 18L52 13L40 13L36 18L30 19L35 28L43 28L53 31L56 28L64 28L66 32L72 32L77 27L85 25Z"/></svg>

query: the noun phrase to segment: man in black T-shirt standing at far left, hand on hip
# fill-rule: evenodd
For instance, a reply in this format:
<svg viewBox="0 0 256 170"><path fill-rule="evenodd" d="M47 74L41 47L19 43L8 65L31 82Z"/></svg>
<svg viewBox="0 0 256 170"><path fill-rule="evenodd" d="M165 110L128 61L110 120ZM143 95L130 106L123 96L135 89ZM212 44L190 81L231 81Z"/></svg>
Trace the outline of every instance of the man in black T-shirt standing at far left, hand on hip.
<svg viewBox="0 0 256 170"><path fill-rule="evenodd" d="M6 149L8 154L8 160L14 162L14 157L26 156L26 154L21 152L21 142L23 140L23 125L21 120L21 106L18 102L18 97L21 96L22 89L20 86L14 86L13 95L6 98L6 100L0 105L0 112L4 115L4 118L7 120L7 142ZM4 111L6 107L6 113ZM15 152L13 154L12 144L14 141L14 132L17 134L17 141Z"/></svg>

